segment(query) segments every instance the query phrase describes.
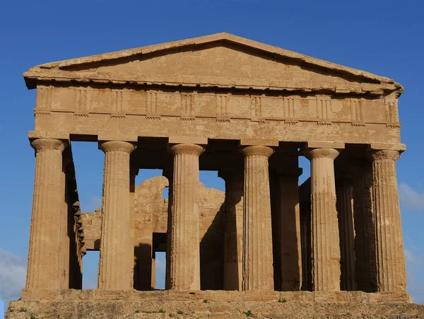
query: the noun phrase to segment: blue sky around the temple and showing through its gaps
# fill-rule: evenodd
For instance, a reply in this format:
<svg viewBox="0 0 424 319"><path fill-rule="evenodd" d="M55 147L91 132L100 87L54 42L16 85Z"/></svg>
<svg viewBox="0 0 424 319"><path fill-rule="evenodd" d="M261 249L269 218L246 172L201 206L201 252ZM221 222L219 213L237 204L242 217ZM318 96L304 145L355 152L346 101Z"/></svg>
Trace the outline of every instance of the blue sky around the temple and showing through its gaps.
<svg viewBox="0 0 424 319"><path fill-rule="evenodd" d="M46 62L225 31L404 85L399 115L408 149L397 168L408 292L424 303L423 11L422 1L408 0L1 1L0 296L18 296L28 253L34 153L27 134L33 129L35 91L25 88L23 71ZM90 211L100 204L103 154L93 143L75 144L73 153L82 209ZM137 182L152 175L158 172L141 173ZM201 180L208 187L223 187L212 173ZM87 265L95 265L95 256L91 259ZM90 286L95 267L87 272Z"/></svg>

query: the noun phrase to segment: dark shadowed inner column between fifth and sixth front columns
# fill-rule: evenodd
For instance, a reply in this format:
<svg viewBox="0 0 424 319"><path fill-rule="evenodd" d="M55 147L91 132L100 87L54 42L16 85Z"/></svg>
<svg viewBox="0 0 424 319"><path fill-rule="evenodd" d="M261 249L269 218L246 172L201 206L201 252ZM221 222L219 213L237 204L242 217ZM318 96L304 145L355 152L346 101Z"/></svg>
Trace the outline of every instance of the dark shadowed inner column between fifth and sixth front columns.
<svg viewBox="0 0 424 319"><path fill-rule="evenodd" d="M356 290L355 231L353 229L353 187L350 180L338 180L336 187L338 231L341 254L341 290Z"/></svg>

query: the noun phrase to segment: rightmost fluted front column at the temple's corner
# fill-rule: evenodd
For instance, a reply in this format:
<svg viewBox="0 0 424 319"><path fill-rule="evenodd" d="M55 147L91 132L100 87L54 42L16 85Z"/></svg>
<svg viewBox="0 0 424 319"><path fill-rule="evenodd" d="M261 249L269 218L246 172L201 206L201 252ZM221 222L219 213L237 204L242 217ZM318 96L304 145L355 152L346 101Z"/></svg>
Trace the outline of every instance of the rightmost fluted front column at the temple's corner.
<svg viewBox="0 0 424 319"><path fill-rule="evenodd" d="M372 153L378 291L405 291L406 269L396 180L399 151Z"/></svg>

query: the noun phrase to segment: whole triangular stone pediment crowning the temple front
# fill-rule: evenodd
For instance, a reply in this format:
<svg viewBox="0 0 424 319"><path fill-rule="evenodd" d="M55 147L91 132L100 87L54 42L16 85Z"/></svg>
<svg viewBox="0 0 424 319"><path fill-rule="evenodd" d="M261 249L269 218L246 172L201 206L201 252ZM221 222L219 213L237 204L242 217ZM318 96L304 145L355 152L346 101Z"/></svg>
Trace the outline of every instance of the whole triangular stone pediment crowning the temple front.
<svg viewBox="0 0 424 319"><path fill-rule="evenodd" d="M24 76L28 88L54 80L356 93L402 90L382 76L228 33L42 64Z"/></svg>

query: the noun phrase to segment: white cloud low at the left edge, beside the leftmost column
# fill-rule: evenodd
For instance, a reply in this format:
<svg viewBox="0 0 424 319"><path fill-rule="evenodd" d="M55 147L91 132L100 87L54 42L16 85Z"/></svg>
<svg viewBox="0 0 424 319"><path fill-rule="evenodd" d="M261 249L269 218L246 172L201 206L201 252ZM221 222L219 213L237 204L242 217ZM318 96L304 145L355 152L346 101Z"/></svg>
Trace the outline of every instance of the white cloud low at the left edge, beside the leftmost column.
<svg viewBox="0 0 424 319"><path fill-rule="evenodd" d="M25 286L26 261L0 248L0 297L18 298Z"/></svg>

